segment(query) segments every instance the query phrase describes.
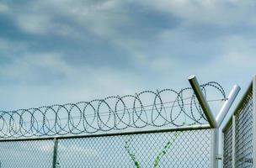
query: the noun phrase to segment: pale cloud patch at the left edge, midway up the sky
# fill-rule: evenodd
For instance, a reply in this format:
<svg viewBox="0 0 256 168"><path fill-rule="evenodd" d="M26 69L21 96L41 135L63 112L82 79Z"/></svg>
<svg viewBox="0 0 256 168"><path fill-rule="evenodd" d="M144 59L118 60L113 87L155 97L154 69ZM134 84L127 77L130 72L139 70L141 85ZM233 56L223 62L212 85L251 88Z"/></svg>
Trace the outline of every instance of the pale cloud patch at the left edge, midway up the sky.
<svg viewBox="0 0 256 168"><path fill-rule="evenodd" d="M68 71L67 67L62 67L61 60L57 57L56 53L25 54L15 57L11 64L3 66L3 71L0 72L1 81L21 82L24 85L43 84L52 78L56 81L64 76L64 68Z"/></svg>

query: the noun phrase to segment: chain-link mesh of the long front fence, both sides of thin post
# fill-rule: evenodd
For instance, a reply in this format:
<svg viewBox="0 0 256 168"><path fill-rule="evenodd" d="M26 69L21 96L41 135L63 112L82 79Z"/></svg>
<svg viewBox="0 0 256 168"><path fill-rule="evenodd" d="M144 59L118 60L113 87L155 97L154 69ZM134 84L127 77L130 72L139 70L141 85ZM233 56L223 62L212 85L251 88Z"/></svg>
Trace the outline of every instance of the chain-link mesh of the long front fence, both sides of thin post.
<svg viewBox="0 0 256 168"><path fill-rule="evenodd" d="M211 129L57 139L56 167L204 168ZM51 167L54 139L0 143L1 168Z"/></svg>

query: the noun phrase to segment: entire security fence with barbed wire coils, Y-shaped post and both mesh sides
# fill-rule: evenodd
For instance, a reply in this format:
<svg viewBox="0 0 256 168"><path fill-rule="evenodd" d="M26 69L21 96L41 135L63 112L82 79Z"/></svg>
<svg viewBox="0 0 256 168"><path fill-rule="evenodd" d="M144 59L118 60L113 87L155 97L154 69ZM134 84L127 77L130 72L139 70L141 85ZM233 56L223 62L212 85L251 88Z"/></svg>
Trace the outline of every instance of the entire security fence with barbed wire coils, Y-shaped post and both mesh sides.
<svg viewBox="0 0 256 168"><path fill-rule="evenodd" d="M194 77L190 84L179 91L0 111L0 168L217 167L218 128L239 88L227 97L214 81L199 86ZM224 167L252 165L251 97L223 131ZM216 118L208 103L222 105Z"/></svg>

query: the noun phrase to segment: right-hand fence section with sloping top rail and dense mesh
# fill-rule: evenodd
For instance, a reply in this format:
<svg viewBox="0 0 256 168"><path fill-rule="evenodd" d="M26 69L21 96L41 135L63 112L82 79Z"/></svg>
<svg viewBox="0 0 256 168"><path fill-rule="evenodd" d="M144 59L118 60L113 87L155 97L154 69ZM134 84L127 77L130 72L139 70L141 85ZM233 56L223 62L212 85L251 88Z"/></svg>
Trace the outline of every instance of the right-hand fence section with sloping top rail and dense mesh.
<svg viewBox="0 0 256 168"><path fill-rule="evenodd" d="M255 78L223 129L223 167L255 167Z"/></svg>

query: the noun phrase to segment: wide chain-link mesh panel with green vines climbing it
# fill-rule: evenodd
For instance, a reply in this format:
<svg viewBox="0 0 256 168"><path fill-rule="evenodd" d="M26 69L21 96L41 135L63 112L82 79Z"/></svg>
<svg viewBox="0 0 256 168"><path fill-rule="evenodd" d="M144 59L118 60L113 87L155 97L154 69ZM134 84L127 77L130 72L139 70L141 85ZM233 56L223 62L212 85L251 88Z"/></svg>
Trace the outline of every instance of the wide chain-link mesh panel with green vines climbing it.
<svg viewBox="0 0 256 168"><path fill-rule="evenodd" d="M59 139L59 167L210 167L211 129Z"/></svg>

